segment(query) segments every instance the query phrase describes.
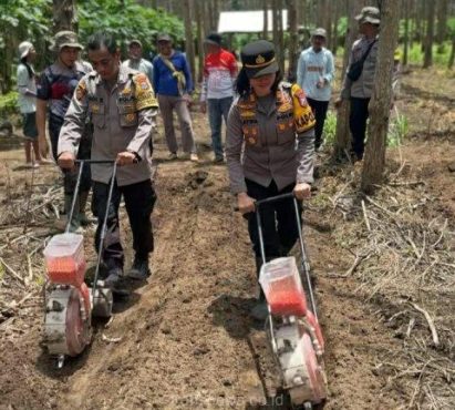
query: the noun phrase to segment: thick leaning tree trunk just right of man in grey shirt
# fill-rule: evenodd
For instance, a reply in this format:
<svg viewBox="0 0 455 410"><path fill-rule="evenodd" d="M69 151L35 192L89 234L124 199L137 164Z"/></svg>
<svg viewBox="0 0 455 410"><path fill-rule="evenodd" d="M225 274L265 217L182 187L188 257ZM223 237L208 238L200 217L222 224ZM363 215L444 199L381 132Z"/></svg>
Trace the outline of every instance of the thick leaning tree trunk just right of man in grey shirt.
<svg viewBox="0 0 455 410"><path fill-rule="evenodd" d="M362 170L361 187L366 193L371 193L375 185L383 182L392 102L393 54L399 37L399 4L396 0L382 0L375 80L369 104L369 140Z"/></svg>

